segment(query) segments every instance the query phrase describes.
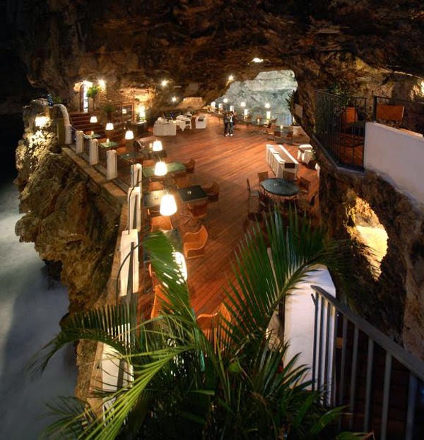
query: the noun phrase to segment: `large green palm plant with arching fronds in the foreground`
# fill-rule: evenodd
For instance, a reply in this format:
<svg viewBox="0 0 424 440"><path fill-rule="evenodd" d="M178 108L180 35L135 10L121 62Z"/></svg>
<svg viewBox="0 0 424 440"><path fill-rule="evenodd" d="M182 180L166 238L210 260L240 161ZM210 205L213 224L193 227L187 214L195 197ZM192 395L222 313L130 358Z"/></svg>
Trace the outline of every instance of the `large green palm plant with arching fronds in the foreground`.
<svg viewBox="0 0 424 440"><path fill-rule="evenodd" d="M271 213L236 252L225 306L213 333L196 323L170 242L161 233L146 250L166 295L157 319L134 323L136 308L119 304L75 314L37 358L43 369L76 340L110 345L132 380L98 396L110 405L96 417L83 403L50 405L59 416L46 432L78 439L329 439L341 408L328 410L309 391L306 366L286 359L287 343L269 331L274 311L317 263L340 270L346 244L326 242L322 230ZM122 329L125 328L125 331ZM281 336L281 335L280 335ZM66 403L65 403L66 402Z"/></svg>

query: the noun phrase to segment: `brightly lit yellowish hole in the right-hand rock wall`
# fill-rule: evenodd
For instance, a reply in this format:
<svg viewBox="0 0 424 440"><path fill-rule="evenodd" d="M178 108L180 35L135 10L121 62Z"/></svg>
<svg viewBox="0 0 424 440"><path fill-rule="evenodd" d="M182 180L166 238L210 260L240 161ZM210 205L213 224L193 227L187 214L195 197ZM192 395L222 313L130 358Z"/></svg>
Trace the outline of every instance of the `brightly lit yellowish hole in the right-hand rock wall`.
<svg viewBox="0 0 424 440"><path fill-rule="evenodd" d="M355 196L350 217L353 221L353 227L349 228L351 238L367 246L365 258L370 263L372 277L378 280L382 272L382 259L387 254L389 236L370 204L358 196Z"/></svg>

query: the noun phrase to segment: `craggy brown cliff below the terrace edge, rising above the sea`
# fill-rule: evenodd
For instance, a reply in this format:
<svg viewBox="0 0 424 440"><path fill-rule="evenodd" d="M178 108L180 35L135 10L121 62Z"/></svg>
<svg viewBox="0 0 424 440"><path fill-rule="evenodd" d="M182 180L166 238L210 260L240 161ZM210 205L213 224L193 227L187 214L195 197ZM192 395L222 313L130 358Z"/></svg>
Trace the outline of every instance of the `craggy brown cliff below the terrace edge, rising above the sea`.
<svg viewBox="0 0 424 440"><path fill-rule="evenodd" d="M25 133L16 150L16 184L25 215L16 234L34 242L43 260L61 261L72 312L92 307L105 295L121 206L62 152L57 112L39 105L25 109ZM35 115L46 113L49 122L37 129Z"/></svg>

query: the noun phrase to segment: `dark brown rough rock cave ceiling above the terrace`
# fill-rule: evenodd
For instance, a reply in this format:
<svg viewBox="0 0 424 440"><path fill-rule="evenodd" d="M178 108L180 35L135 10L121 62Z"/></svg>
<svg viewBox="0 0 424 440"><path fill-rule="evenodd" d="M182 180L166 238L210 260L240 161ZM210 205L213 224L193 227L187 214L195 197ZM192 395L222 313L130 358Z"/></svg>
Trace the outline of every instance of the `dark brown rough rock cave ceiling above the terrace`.
<svg viewBox="0 0 424 440"><path fill-rule="evenodd" d="M9 1L28 79L66 97L73 83L173 88L213 100L228 75L292 69L302 85L361 88L424 76L422 1ZM264 59L262 64L252 62ZM170 88L172 90L172 88Z"/></svg>

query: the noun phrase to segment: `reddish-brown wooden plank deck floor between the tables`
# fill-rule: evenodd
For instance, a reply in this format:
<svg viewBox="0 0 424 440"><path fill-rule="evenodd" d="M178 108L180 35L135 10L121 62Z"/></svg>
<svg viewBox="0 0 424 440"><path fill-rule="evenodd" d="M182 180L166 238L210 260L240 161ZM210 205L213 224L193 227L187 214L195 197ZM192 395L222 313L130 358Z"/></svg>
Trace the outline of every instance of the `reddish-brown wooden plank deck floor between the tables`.
<svg viewBox="0 0 424 440"><path fill-rule="evenodd" d="M248 178L258 188L257 173L269 171L266 164L266 134L254 126L235 126L234 136L223 136L223 124L218 117L209 116L206 129L177 131L177 136L160 136L167 156L181 162L196 161L192 184L208 184L216 180L220 185L219 203L208 206L206 228L209 238L204 256L187 261L189 292L196 314L211 313L223 301L223 289L231 275L230 262L237 244L243 237L247 218ZM298 143L305 139L297 138ZM284 144L295 157L295 145ZM297 145L297 144L296 144ZM319 179L315 170L300 165L298 175L312 181L311 193L318 190ZM209 209L210 208L210 209ZM180 211L179 211L180 212ZM196 230L196 225L184 225L180 215L172 216L172 223L180 233ZM139 308L145 316L150 314L153 294L141 293Z"/></svg>

